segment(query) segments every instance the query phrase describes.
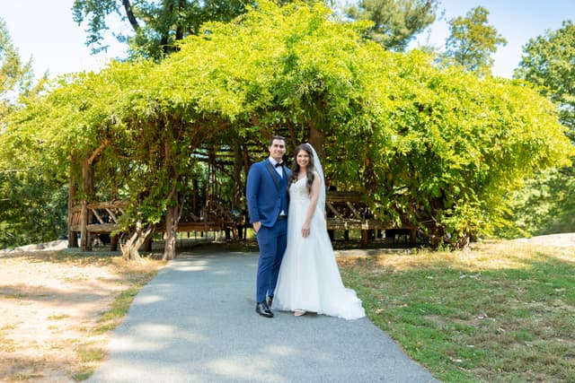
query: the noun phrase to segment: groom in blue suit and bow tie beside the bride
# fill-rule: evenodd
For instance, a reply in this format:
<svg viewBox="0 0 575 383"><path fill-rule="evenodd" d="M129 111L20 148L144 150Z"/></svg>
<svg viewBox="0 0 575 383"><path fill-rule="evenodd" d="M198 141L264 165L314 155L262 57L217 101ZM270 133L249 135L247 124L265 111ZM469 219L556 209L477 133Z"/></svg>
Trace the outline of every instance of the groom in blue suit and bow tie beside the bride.
<svg viewBox="0 0 575 383"><path fill-rule="evenodd" d="M287 244L290 170L282 162L286 153L284 137L271 137L268 150L270 158L250 168L245 194L250 223L260 247L255 311L262 317L273 318L270 306Z"/></svg>

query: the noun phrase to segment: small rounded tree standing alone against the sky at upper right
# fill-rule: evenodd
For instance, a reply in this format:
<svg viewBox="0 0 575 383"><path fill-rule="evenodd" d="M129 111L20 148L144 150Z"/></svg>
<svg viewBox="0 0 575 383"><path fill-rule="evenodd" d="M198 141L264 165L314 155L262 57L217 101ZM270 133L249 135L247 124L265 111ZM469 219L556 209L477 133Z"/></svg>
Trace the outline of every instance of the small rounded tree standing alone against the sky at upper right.
<svg viewBox="0 0 575 383"><path fill-rule="evenodd" d="M445 57L448 61L462 65L470 72L491 73L491 54L497 51L498 46L507 44L507 40L488 24L488 15L489 11L477 6L465 17L459 16L448 22L451 32L446 41Z"/></svg>

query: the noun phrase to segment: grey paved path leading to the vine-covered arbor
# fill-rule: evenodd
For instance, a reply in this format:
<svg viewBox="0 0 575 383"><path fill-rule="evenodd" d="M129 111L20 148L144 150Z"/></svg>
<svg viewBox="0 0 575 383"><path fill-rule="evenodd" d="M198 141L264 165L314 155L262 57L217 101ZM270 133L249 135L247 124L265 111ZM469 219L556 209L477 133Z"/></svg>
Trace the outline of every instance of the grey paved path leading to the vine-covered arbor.
<svg viewBox="0 0 575 383"><path fill-rule="evenodd" d="M87 381L438 381L367 318L261 318L256 265L256 253L181 254L137 295Z"/></svg>

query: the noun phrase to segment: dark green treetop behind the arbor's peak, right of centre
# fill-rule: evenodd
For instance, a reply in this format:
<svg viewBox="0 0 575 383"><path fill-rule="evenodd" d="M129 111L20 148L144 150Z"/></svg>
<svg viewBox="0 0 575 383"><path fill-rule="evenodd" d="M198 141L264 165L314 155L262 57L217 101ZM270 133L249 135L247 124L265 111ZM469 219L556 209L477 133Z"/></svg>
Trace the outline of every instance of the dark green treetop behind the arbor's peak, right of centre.
<svg viewBox="0 0 575 383"><path fill-rule="evenodd" d="M437 9L437 0L362 0L345 13L374 22L369 35L384 48L404 51L416 34L435 22Z"/></svg>

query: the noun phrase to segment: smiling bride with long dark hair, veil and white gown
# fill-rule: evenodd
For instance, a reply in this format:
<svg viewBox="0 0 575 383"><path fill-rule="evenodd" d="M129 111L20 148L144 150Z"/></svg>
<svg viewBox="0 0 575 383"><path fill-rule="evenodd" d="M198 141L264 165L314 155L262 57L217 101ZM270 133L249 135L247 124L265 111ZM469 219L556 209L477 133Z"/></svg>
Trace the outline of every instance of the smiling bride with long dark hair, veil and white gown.
<svg viewBox="0 0 575 383"><path fill-rule="evenodd" d="M325 229L322 165L310 144L296 147L288 180L288 248L279 268L272 307L296 316L365 317L356 292L345 288Z"/></svg>

